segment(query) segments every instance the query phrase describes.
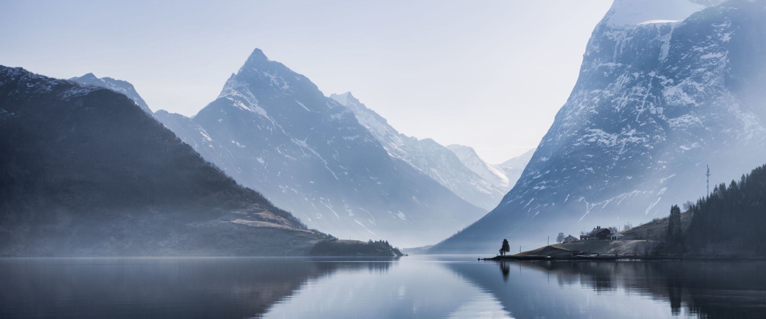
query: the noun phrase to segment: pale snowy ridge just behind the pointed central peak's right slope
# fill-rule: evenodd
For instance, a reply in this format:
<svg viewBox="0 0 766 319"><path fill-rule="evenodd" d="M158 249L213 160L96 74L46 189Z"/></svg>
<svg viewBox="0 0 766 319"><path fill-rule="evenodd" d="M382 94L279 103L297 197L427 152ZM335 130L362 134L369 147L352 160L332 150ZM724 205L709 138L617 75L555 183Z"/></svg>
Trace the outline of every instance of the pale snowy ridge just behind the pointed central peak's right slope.
<svg viewBox="0 0 766 319"><path fill-rule="evenodd" d="M463 200L489 211L497 206L508 191L466 168L460 158L433 139L417 139L399 133L386 119L368 109L350 92L331 94L330 98L351 109L359 124L378 139L388 155L407 162Z"/></svg>

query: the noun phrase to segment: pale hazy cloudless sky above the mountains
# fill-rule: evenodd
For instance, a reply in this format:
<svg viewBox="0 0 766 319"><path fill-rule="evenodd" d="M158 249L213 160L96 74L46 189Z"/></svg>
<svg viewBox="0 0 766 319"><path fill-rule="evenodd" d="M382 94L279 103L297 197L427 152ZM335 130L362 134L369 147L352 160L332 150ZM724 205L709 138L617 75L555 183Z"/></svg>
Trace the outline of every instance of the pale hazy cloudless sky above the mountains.
<svg viewBox="0 0 766 319"><path fill-rule="evenodd" d="M127 80L194 115L255 48L406 135L499 163L534 148L611 0L0 0L0 64Z"/></svg>

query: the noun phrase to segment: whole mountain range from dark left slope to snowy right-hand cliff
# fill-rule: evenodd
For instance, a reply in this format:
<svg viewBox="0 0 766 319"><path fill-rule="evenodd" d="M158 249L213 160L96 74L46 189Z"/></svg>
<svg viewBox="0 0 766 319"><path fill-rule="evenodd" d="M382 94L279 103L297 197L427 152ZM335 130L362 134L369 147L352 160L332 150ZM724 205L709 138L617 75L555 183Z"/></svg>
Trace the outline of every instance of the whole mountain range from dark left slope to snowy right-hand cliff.
<svg viewBox="0 0 766 319"><path fill-rule="evenodd" d="M458 232L428 252L493 252L647 221L704 196L707 165L717 184L762 164L764 43L766 0L616 0L538 148L502 164L401 134L259 49L191 118L152 113L123 80L0 66L0 255L295 254L332 238L309 228L395 246Z"/></svg>

